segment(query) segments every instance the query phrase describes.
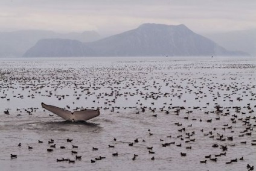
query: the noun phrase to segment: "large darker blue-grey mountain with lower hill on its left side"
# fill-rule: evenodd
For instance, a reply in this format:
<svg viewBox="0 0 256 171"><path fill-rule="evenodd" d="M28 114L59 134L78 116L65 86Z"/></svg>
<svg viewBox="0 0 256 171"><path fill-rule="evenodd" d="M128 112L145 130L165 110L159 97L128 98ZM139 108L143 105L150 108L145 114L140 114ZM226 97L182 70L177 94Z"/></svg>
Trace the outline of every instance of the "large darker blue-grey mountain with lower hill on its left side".
<svg viewBox="0 0 256 171"><path fill-rule="evenodd" d="M68 48L65 47L67 45L65 41L62 47ZM50 42L51 40L48 40L48 43ZM61 40L58 43L62 43ZM55 48L53 43L51 45L46 48L45 45L37 43L24 54L24 57L45 57L45 55L40 55L45 54L45 51L54 51L54 54L48 54L48 57L63 57L63 53L59 52L60 49ZM210 39L194 33L185 25L155 23L145 23L135 30L95 42L83 43L83 46L87 51L80 48L80 52L76 53L83 54L84 57L246 55L244 52L228 51Z"/></svg>

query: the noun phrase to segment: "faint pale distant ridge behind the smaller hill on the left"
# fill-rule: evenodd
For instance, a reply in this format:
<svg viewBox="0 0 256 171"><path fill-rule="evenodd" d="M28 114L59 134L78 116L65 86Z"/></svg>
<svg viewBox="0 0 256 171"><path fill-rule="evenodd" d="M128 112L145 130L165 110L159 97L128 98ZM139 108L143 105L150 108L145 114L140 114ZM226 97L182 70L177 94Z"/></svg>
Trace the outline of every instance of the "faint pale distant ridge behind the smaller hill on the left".
<svg viewBox="0 0 256 171"><path fill-rule="evenodd" d="M100 39L95 31L60 34L54 31L22 30L0 33L0 57L21 57L40 39L72 39L92 42Z"/></svg>

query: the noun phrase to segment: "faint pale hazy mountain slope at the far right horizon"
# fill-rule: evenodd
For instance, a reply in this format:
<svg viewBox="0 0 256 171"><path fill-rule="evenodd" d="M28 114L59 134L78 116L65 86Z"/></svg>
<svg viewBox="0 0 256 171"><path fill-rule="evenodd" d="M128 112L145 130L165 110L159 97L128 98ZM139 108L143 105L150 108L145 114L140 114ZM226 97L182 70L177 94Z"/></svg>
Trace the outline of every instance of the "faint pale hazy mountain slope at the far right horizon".
<svg viewBox="0 0 256 171"><path fill-rule="evenodd" d="M256 56L256 29L205 34L204 36L217 42L226 49L232 51L239 49L240 51Z"/></svg>

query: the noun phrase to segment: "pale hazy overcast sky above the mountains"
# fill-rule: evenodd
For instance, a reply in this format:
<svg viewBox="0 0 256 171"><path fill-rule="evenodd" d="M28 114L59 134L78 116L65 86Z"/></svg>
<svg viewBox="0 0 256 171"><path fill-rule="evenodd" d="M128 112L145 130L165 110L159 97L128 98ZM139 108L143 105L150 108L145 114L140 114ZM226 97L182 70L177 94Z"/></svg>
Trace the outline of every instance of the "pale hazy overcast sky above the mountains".
<svg viewBox="0 0 256 171"><path fill-rule="evenodd" d="M121 33L184 23L196 33L256 28L256 0L0 0L0 31Z"/></svg>

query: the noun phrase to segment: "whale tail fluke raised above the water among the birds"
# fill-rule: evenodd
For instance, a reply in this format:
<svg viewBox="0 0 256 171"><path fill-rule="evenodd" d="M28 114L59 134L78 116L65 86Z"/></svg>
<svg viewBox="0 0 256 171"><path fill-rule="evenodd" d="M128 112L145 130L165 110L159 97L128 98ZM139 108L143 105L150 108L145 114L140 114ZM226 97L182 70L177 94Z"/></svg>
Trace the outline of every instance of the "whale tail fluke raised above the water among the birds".
<svg viewBox="0 0 256 171"><path fill-rule="evenodd" d="M92 119L94 117L97 117L100 115L100 109L97 108L97 110L81 110L81 111L74 111L71 112L69 110L65 110L63 108L55 107L53 105L46 105L42 102L42 107L45 108L48 111L51 111L54 114L57 114L57 116L62 117L65 120L69 120L72 122L77 121L86 121L89 119Z"/></svg>

